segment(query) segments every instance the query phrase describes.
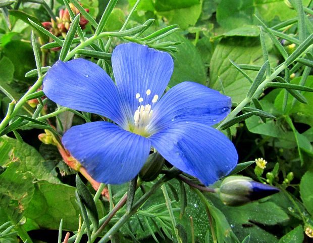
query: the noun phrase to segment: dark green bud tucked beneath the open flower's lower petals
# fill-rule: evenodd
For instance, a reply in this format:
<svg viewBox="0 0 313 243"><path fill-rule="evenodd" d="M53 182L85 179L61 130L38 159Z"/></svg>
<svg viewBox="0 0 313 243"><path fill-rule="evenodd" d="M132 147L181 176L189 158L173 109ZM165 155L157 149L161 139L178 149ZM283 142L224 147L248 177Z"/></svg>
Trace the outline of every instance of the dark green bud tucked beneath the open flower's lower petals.
<svg viewBox="0 0 313 243"><path fill-rule="evenodd" d="M155 152L150 154L141 171L139 172L142 181L152 181L160 174L164 165L164 158Z"/></svg>

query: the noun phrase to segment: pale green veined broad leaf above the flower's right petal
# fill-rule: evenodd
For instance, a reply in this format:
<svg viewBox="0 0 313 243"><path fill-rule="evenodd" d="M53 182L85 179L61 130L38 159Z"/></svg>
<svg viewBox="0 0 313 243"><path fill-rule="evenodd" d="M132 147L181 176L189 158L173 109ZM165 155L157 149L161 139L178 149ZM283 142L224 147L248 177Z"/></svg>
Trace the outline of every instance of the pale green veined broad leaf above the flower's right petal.
<svg viewBox="0 0 313 243"><path fill-rule="evenodd" d="M268 51L270 51L271 44L268 45L268 48ZM211 59L210 87L216 90L222 90L219 82L220 77L223 82L225 94L231 96L233 102L240 103L246 97L251 84L236 70L229 60L232 60L237 65L262 65L263 54L259 38L224 38L215 48ZM271 67L274 66L274 59L272 59ZM257 74L255 71L250 70L246 70L245 73L251 79L254 79Z"/></svg>

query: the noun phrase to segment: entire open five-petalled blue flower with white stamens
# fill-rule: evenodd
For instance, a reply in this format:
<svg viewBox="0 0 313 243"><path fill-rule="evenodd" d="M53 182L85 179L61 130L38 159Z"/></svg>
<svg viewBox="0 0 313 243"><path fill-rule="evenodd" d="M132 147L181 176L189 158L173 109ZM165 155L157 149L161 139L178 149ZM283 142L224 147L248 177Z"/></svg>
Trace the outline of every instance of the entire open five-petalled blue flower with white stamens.
<svg viewBox="0 0 313 243"><path fill-rule="evenodd" d="M112 67L116 84L99 66L83 59L58 61L43 80L43 91L54 102L114 121L74 126L62 138L95 180L131 180L151 147L205 185L236 166L233 143L211 127L229 114L229 97L193 82L182 82L163 95L173 60L147 46L118 45Z"/></svg>

